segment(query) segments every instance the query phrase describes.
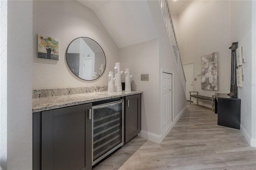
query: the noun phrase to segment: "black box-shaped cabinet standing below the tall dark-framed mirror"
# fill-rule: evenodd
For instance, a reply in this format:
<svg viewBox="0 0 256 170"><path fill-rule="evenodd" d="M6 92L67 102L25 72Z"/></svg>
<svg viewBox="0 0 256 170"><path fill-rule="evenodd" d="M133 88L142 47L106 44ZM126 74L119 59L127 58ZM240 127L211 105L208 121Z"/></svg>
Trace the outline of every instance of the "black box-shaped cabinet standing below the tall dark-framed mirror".
<svg viewBox="0 0 256 170"><path fill-rule="evenodd" d="M240 129L241 100L226 93L215 93L215 113L218 125Z"/></svg>

